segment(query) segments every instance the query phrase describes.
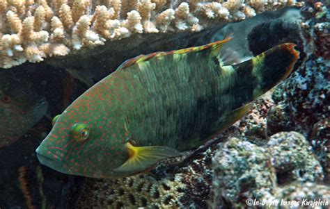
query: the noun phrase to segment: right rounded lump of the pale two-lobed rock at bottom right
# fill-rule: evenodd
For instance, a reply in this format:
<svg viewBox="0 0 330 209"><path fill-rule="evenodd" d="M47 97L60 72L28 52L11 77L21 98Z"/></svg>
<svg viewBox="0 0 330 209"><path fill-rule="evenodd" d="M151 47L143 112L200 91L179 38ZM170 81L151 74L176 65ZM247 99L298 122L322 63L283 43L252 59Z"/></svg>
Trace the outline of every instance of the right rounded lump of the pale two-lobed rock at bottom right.
<svg viewBox="0 0 330 209"><path fill-rule="evenodd" d="M322 167L304 135L294 131L276 133L270 137L266 148L272 156L278 184L322 180Z"/></svg>

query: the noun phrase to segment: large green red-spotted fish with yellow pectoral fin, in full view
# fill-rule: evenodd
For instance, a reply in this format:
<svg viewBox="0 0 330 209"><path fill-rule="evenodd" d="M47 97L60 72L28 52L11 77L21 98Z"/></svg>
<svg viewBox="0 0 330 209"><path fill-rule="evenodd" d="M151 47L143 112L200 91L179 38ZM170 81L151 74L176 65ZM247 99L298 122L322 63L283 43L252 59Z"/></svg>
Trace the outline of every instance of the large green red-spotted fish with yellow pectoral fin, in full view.
<svg viewBox="0 0 330 209"><path fill-rule="evenodd" d="M228 40L123 62L54 117L38 159L65 174L119 178L200 146L244 116L299 58L285 43L223 66L219 49Z"/></svg>

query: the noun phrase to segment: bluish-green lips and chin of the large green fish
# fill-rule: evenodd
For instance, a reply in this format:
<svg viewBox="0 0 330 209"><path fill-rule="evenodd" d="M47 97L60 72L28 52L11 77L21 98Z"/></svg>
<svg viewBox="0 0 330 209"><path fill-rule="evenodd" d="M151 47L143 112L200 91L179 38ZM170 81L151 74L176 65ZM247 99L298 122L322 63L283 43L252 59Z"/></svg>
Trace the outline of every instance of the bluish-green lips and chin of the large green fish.
<svg viewBox="0 0 330 209"><path fill-rule="evenodd" d="M39 149L39 147L38 147L38 149ZM50 167L51 169L54 169L56 172L61 172L61 173L64 173L64 174L72 174L68 163L66 163L64 160L61 160L58 157L57 158L50 158L49 156L45 156L42 153L40 153L38 151L38 149L36 150L37 158L38 158L39 162L42 165Z"/></svg>

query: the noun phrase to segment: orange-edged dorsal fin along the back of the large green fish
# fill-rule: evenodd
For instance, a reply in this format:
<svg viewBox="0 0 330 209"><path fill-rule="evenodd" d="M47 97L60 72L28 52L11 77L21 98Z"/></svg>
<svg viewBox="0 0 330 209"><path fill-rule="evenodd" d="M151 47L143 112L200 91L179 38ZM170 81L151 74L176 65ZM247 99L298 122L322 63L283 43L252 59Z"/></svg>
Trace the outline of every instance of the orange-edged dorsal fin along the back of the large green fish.
<svg viewBox="0 0 330 209"><path fill-rule="evenodd" d="M179 49L179 50L173 50L173 51L167 51L167 52L159 51L159 52L149 53L147 55L141 54L139 56L136 56L135 58L126 60L117 69L126 68L126 67L129 67L129 66L135 65L139 62L150 60L151 58L159 58L159 57L168 56L168 55L171 55L171 54L183 54L183 53L189 53L189 52L197 52L197 51L203 51L205 49L211 49L211 55L212 56L217 56L218 53L219 53L219 50L221 49L223 44L230 41L231 39L232 39L232 37L228 37L224 40L219 40L217 42L212 42L210 44L205 44L205 45L200 46L200 47L189 47L189 48L186 48L186 49Z"/></svg>

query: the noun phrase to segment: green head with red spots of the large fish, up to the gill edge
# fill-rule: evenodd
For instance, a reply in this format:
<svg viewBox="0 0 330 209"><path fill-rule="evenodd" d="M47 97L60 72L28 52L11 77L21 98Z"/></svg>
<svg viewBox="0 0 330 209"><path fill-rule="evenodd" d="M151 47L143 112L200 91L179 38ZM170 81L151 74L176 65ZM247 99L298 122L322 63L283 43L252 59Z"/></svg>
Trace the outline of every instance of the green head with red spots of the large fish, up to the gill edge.
<svg viewBox="0 0 330 209"><path fill-rule="evenodd" d="M116 176L113 169L128 158L123 146L128 135L100 94L95 85L54 117L52 131L36 150L43 165L65 174Z"/></svg>

